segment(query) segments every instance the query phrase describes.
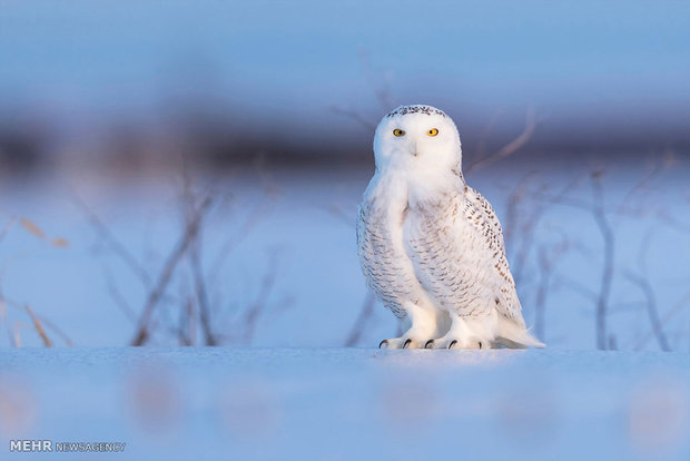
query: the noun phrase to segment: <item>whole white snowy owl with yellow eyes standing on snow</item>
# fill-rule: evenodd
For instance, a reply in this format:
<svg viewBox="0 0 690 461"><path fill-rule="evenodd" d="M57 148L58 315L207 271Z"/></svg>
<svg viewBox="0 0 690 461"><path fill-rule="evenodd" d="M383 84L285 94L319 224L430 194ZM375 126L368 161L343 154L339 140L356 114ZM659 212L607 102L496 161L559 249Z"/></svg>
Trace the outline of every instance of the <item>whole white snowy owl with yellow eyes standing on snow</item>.
<svg viewBox="0 0 690 461"><path fill-rule="evenodd" d="M522 318L501 224L462 175L453 120L401 106L378 124L374 157L357 219L359 263L404 332L379 347L543 346Z"/></svg>

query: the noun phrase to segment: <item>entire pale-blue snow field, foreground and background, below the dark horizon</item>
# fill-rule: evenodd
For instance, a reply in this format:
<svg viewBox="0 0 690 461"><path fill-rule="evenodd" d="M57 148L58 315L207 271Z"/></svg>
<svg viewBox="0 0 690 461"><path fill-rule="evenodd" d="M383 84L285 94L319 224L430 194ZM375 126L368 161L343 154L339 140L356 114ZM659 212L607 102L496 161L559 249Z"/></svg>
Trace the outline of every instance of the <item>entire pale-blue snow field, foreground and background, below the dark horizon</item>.
<svg viewBox="0 0 690 461"><path fill-rule="evenodd" d="M507 196L532 167L493 169L471 182L492 200L504 225ZM629 202L638 212L629 215L615 210L645 170L609 171L605 199L617 236L610 331L624 350L639 349L640 339L649 336L642 294L624 277L645 256L659 314L668 320L664 331L673 350L687 351L688 164L664 170L632 195ZM574 274L580 285L572 290L554 276L542 337L550 349L318 349L345 343L365 296L352 222L371 171L322 173L278 171L270 179L278 190L272 197L255 177L219 178L236 198L217 209L207 228L208 266L255 209L259 218L216 278L209 267L215 325L229 334L225 344L257 349L0 347L0 459L76 458L7 457L9 440L19 438L127 443L125 454L83 459L690 458L690 355L586 351L594 344L594 303L580 285L598 287L601 236L591 216L578 209L552 207L535 229L540 245L561 234L581 244L554 269ZM552 192L576 176L562 166L539 174L555 184ZM106 268L134 310L146 291L102 251L70 190L157 274L179 236L178 189L174 178L89 180L76 175L52 184L0 184L3 222L26 216L49 238L69 241L68 247L55 247L16 224L0 245L0 286L8 298L58 324L77 346L122 345L131 339L132 323L108 293ZM573 190L575 198L590 195L586 182ZM661 212L676 219L673 226L661 225ZM546 253L554 248L549 245ZM243 315L272 265L277 278L266 310L254 336L243 339ZM529 324L539 275L528 265L519 284ZM183 288L184 279L168 295L185 295ZM170 303L160 313L175 308ZM11 344L18 322L24 324L18 330L22 345L40 345L17 306L0 316L0 344ZM392 315L375 306L358 344L376 345L394 330ZM169 337L152 342L175 343ZM642 346L654 349L653 336Z"/></svg>

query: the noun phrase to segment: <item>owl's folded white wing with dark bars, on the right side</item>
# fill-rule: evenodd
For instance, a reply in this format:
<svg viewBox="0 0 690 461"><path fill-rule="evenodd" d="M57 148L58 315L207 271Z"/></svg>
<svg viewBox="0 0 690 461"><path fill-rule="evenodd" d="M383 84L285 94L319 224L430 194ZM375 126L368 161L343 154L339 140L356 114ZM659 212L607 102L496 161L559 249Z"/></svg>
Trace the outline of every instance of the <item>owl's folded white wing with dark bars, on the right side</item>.
<svg viewBox="0 0 690 461"><path fill-rule="evenodd" d="M524 326L501 224L479 192L462 187L422 209L408 249L420 283L460 315L481 315L495 306Z"/></svg>

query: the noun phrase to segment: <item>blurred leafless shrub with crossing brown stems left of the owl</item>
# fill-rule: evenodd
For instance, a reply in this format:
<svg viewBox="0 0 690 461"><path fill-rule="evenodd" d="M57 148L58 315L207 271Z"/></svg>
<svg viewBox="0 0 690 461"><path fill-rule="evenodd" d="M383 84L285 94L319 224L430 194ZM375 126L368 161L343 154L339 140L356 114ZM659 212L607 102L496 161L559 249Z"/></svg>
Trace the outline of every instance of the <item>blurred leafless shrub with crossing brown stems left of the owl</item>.
<svg viewBox="0 0 690 461"><path fill-rule="evenodd" d="M205 184L204 187L195 184L184 159L180 179L177 200L181 212L179 237L157 271L151 271L140 263L96 213L82 200L76 199L100 242L139 279L146 292L141 307L132 308L131 301L120 292L116 277L106 267L103 274L109 295L120 311L135 323L131 345L149 344L154 336L159 336L161 340L172 337L180 345L196 345L197 341L200 341L204 345L214 346L228 339L248 343L263 310L267 306L268 296L277 277L277 264L272 263L257 298L246 306L241 325L235 325L236 330L244 332L241 335L230 337L221 333L227 325L220 324L223 318L217 315L218 302L211 300L209 287L218 284L217 278L229 254L259 220L266 209L265 200L249 213L249 217L236 233L220 244L220 249L214 252L213 264L208 265L204 261L205 228L211 215L224 209L229 200L227 194L218 193L213 184ZM266 195L274 196L277 189L272 186L269 178L264 175L262 180L266 186ZM179 294L175 294L176 287ZM171 315L172 312L177 314ZM197 332L200 334L199 340Z"/></svg>

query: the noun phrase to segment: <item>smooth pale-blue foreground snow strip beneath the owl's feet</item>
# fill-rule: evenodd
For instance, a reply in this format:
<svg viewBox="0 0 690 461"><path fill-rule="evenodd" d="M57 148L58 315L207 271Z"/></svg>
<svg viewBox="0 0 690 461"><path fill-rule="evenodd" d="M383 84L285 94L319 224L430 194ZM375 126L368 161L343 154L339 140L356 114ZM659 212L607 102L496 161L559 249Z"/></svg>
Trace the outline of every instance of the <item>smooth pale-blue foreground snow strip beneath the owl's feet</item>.
<svg viewBox="0 0 690 461"><path fill-rule="evenodd" d="M689 433L682 353L0 352L1 459L687 460ZM126 449L8 457L11 439Z"/></svg>

